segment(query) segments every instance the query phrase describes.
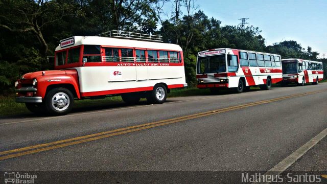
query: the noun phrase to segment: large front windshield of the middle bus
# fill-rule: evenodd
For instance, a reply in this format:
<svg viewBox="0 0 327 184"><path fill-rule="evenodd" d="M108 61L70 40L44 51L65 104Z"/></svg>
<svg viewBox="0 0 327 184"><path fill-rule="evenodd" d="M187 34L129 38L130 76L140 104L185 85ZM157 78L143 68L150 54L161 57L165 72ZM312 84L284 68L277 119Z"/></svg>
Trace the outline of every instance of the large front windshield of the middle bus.
<svg viewBox="0 0 327 184"><path fill-rule="evenodd" d="M226 72L225 54L200 57L198 59L198 74Z"/></svg>

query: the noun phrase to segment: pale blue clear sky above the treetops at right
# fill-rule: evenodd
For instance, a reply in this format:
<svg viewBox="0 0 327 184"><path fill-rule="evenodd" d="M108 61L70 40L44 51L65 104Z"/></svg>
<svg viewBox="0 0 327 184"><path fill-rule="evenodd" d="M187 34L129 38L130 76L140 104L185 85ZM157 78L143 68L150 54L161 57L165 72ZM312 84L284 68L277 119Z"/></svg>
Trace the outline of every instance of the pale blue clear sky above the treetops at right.
<svg viewBox="0 0 327 184"><path fill-rule="evenodd" d="M294 40L327 58L327 0L197 0L195 4L222 26L236 26L239 18L249 18L250 26L262 30L266 45Z"/></svg>

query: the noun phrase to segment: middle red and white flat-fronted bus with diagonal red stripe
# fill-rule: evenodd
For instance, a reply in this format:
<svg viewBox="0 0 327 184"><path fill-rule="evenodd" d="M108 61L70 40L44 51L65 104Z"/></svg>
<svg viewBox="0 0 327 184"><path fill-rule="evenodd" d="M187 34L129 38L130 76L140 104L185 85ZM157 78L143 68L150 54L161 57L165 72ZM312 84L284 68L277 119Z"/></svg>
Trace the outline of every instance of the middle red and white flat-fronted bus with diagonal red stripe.
<svg viewBox="0 0 327 184"><path fill-rule="evenodd" d="M238 49L212 49L198 53L197 87L235 88L238 93L250 86L270 89L282 81L281 56Z"/></svg>

